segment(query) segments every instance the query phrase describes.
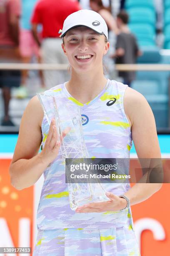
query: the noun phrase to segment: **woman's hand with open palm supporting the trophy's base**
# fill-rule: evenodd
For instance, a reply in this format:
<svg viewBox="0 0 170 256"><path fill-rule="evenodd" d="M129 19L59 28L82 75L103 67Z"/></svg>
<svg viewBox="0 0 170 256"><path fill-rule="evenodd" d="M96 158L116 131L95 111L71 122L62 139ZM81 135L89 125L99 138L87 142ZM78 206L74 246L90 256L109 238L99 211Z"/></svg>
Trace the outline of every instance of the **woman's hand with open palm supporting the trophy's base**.
<svg viewBox="0 0 170 256"><path fill-rule="evenodd" d="M110 192L106 192L108 201L105 202L92 202L87 205L82 205L78 207L75 212L85 213L85 212L107 212L107 211L120 211L127 206L127 201L122 198L114 195Z"/></svg>

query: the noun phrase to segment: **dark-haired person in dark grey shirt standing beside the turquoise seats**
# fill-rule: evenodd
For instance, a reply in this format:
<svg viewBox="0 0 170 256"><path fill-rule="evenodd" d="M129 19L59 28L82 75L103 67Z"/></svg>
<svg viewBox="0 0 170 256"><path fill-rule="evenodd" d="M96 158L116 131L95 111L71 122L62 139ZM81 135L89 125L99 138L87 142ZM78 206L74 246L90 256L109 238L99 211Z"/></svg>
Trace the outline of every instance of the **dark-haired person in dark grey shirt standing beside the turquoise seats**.
<svg viewBox="0 0 170 256"><path fill-rule="evenodd" d="M117 15L117 27L120 33L117 35L115 54L112 55L115 58L116 64L134 64L136 63L137 56L142 54L135 36L128 28L128 20L129 16L125 11L121 11ZM123 78L123 83L129 86L135 79L134 71L120 71L118 75Z"/></svg>

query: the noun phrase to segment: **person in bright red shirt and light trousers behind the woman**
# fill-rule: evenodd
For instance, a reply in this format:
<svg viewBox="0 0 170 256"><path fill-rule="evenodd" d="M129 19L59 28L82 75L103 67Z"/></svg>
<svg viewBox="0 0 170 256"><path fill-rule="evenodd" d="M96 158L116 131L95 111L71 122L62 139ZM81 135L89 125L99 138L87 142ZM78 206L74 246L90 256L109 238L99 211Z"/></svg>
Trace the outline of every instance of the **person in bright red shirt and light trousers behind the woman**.
<svg viewBox="0 0 170 256"><path fill-rule="evenodd" d="M40 0L35 5L32 15L32 32L37 44L42 48L44 63L67 64L67 58L62 53L61 39L58 33L65 18L71 13L80 10L80 5L73 0ZM42 25L42 44L38 38L37 26ZM45 85L47 88L61 84L68 77L65 71L45 71Z"/></svg>

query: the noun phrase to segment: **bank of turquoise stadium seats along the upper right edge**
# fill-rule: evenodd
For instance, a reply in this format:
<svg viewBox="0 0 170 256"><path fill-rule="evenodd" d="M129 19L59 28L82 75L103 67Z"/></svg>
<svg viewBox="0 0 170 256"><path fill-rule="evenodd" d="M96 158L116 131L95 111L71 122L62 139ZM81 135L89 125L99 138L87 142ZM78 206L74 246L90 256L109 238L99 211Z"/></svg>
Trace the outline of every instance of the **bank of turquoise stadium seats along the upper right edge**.
<svg viewBox="0 0 170 256"><path fill-rule="evenodd" d="M165 49L170 49L170 0L164 1ZM126 0L125 9L129 14L129 28L135 34L143 56L141 64L163 64L165 59L156 46L156 12L153 0ZM168 61L168 62L167 62ZM166 58L166 63L170 59ZM170 72L138 71L131 87L145 96L155 115L157 128L168 127L168 86Z"/></svg>

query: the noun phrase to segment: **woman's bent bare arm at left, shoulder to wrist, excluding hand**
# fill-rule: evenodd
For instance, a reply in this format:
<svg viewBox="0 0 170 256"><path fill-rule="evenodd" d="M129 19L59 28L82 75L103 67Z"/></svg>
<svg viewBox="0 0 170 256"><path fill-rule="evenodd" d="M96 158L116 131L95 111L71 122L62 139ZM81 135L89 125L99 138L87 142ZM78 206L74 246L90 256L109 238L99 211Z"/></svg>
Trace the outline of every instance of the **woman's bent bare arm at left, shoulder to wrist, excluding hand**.
<svg viewBox="0 0 170 256"><path fill-rule="evenodd" d="M37 96L28 103L20 123L18 141L10 164L11 184L16 189L33 185L45 170L38 151L42 141L43 110Z"/></svg>

